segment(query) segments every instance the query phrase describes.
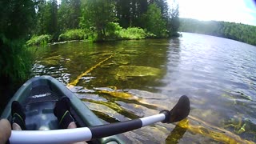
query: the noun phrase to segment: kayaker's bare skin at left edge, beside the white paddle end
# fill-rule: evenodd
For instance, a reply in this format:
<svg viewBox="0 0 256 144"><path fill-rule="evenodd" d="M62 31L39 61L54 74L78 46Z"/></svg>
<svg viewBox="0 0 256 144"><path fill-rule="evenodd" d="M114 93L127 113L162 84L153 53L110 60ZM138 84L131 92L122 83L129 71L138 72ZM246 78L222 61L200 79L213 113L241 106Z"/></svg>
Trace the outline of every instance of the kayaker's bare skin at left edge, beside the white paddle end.
<svg viewBox="0 0 256 144"><path fill-rule="evenodd" d="M6 143L10 138L11 126L7 119L0 120L0 143Z"/></svg>

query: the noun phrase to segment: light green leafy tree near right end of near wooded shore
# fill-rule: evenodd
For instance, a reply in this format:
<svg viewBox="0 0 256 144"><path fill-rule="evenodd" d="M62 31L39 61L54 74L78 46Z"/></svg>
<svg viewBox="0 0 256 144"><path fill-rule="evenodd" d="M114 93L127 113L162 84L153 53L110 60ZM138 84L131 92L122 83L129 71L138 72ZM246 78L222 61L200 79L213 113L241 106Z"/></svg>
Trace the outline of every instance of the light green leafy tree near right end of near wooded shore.
<svg viewBox="0 0 256 144"><path fill-rule="evenodd" d="M157 37L167 37L166 22L162 18L161 9L156 3L150 4L146 12L146 30Z"/></svg>

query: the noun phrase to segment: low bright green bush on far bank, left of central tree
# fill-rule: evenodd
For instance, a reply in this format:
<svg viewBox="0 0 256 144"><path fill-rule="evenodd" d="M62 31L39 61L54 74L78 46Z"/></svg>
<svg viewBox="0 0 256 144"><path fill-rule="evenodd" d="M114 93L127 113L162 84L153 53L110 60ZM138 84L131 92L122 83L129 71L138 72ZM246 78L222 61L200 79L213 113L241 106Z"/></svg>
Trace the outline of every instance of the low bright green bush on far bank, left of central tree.
<svg viewBox="0 0 256 144"><path fill-rule="evenodd" d="M59 35L58 41L82 40L84 39L84 37L85 33L83 32L83 30L66 30L64 34Z"/></svg>

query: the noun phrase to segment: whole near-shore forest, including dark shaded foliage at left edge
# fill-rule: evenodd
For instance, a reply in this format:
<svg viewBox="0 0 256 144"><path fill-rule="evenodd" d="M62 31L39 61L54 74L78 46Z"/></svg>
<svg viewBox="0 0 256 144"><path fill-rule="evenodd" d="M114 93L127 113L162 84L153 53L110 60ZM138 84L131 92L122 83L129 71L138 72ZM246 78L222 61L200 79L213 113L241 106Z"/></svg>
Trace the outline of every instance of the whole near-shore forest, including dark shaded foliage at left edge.
<svg viewBox="0 0 256 144"><path fill-rule="evenodd" d="M166 0L3 0L0 9L0 108L30 77L28 46L178 36L178 4Z"/></svg>

